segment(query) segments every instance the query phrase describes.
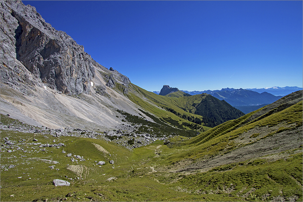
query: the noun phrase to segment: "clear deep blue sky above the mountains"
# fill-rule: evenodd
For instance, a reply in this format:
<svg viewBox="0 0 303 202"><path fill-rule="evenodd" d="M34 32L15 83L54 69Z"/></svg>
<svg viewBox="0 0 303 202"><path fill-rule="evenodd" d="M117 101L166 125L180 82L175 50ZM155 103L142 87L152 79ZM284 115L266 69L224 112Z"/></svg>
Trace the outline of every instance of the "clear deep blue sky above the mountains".
<svg viewBox="0 0 303 202"><path fill-rule="evenodd" d="M148 91L302 87L302 1L23 1Z"/></svg>

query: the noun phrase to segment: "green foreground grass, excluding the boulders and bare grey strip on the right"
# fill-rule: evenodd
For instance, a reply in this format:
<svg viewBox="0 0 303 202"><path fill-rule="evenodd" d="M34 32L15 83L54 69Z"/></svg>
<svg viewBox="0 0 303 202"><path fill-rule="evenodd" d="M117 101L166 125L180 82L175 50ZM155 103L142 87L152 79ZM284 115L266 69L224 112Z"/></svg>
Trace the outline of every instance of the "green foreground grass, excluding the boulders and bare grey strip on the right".
<svg viewBox="0 0 303 202"><path fill-rule="evenodd" d="M225 142L231 143L228 139L251 127L280 121L302 123L302 102L241 126L255 113L228 121L187 141L184 141L184 137L171 139L183 145L181 147L169 148L161 141L156 141L132 151L97 139L57 138L51 134L45 137L39 133L2 130L1 137L9 137L16 141L15 144L20 139L28 142L20 145L27 152L14 149L8 153L8 149L2 147L1 165L6 168L14 164L16 167L8 171L1 168L1 201L60 201L65 197L67 201L269 201L279 200L279 197L302 201L302 147L285 151L283 159L277 161L253 159L225 164L207 172L168 172L167 168L172 162L218 154L220 149L225 148ZM2 115L1 122L10 124L13 120ZM42 144L55 139L56 143L62 142L66 147L46 147L46 151L42 152L42 148L27 144L32 143L34 136ZM97 150L92 143L104 147L111 156ZM61 153L62 149L66 151L65 154ZM77 164L70 161L70 157L65 157L67 153L81 155L86 160ZM59 163L48 163L37 158ZM114 160L115 164L109 164L109 160ZM95 161L105 161L106 164L98 167ZM78 180L78 175L67 169L68 164L82 165L83 179ZM48 168L51 165L59 170ZM75 179L71 186L52 185L53 179L68 180L65 175ZM107 180L110 177L117 179Z"/></svg>

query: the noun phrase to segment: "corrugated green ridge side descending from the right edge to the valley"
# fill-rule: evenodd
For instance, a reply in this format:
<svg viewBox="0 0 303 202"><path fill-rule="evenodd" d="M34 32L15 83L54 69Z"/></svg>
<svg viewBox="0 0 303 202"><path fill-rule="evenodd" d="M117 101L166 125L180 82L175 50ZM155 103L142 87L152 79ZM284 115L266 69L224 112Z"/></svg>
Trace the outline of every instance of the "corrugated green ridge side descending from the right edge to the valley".
<svg viewBox="0 0 303 202"><path fill-rule="evenodd" d="M267 134L264 133L256 136L256 138L254 138L255 142L262 141L266 137L273 136L282 131L285 132L298 129L302 127L302 101L298 101L295 104L290 104L290 102L286 101L282 104L279 103L275 108L267 112L264 111L263 114L259 114L259 116L253 120L251 120L251 118L254 114L261 112L265 108L270 108L270 105L246 114L236 120L227 121L214 127L186 142L181 143L180 146L189 146L190 149L186 153L172 155L169 159L170 161L173 161L172 159L184 157L198 158L206 154L213 155L219 151L223 151L227 145L230 146L228 151L244 147L246 144L241 143L241 141L237 141L237 139L241 138L241 134L247 133L255 128L266 127L268 129ZM272 105L275 105L275 103ZM285 108L283 107L285 105L291 106ZM281 127L276 128L275 126ZM249 142L247 144L252 143ZM214 147L216 148L215 150L209 149L214 145L216 145L216 147Z"/></svg>

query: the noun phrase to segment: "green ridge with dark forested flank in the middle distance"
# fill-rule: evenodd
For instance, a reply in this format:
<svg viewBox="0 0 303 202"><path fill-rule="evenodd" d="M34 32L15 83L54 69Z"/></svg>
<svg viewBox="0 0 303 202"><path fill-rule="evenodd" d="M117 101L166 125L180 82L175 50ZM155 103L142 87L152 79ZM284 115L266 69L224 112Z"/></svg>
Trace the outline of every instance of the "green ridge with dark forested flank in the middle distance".
<svg viewBox="0 0 303 202"><path fill-rule="evenodd" d="M187 96L188 94L185 94L182 91L177 91L166 96L161 96L145 91L133 84L132 88L134 91L129 93L130 95L128 95L128 98L135 103L137 102L141 107L148 108L148 106L146 106L148 104L146 104L146 101L144 100L145 98L148 98L148 100L152 101L153 104L163 109L172 109L181 115L185 114L187 116L202 118L204 126L208 127L215 127L225 121L236 119L244 115L244 113L232 107L227 102L220 101L206 93ZM183 96L184 94L185 96ZM142 97L143 102L138 101L140 96ZM159 113L159 111L157 112L157 116L164 117L163 114ZM179 115L179 117L182 116ZM178 120L177 118L174 119Z"/></svg>

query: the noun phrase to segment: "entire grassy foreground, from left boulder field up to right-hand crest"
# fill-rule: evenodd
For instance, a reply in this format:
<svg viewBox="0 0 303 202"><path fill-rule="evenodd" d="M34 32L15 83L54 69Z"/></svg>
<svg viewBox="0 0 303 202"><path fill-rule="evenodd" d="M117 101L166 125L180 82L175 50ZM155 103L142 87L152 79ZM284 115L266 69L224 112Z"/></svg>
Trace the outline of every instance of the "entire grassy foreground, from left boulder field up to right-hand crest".
<svg viewBox="0 0 303 202"><path fill-rule="evenodd" d="M132 150L3 114L1 126L2 201L302 201L302 91L197 137Z"/></svg>

